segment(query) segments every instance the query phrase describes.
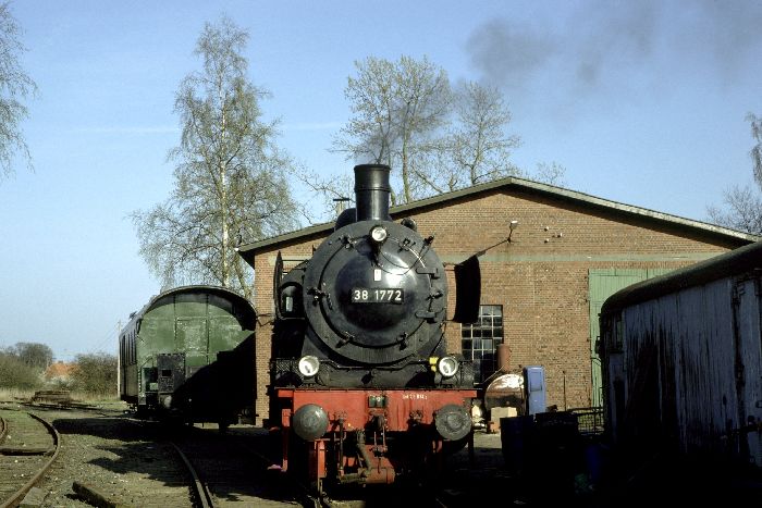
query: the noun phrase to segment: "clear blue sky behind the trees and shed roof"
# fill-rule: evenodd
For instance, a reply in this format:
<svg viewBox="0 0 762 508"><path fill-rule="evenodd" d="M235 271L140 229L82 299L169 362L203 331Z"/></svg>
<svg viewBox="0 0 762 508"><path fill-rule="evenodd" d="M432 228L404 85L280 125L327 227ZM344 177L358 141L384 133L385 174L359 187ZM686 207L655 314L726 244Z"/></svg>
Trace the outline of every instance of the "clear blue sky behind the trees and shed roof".
<svg viewBox="0 0 762 508"><path fill-rule="evenodd" d="M15 0L39 95L24 133L34 172L0 182L0 346L60 360L115 352L160 285L128 215L169 196L173 112L206 22L249 32L279 144L323 174L349 115L354 62L427 57L453 80L497 85L521 138L513 160L566 168L566 187L696 220L752 185L747 113L762 114L755 1Z"/></svg>

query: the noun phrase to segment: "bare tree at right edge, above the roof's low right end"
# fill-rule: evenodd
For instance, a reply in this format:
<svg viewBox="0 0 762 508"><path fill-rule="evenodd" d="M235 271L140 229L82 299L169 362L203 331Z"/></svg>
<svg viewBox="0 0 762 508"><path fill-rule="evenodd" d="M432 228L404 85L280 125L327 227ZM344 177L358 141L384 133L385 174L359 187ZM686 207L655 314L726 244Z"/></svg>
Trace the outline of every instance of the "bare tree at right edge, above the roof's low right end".
<svg viewBox="0 0 762 508"><path fill-rule="evenodd" d="M757 189L733 186L723 193L724 207L709 206L706 214L715 224L762 235L762 119L749 113L746 120L755 141L749 156Z"/></svg>

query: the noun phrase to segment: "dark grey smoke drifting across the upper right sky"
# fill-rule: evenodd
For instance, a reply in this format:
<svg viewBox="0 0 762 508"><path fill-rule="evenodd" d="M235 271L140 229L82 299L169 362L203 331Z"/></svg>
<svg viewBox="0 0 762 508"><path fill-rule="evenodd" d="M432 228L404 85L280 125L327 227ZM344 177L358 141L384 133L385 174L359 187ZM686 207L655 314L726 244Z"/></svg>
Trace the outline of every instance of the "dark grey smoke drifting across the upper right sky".
<svg viewBox="0 0 762 508"><path fill-rule="evenodd" d="M534 5L527 4L527 11ZM741 73L757 72L762 2L638 0L575 5L563 18L543 20L546 14L530 12L533 25L506 17L475 30L466 50L480 78L514 97L534 90L553 95L561 103L575 103L580 97L626 87L628 76L668 83L672 73L698 72L727 86Z"/></svg>

